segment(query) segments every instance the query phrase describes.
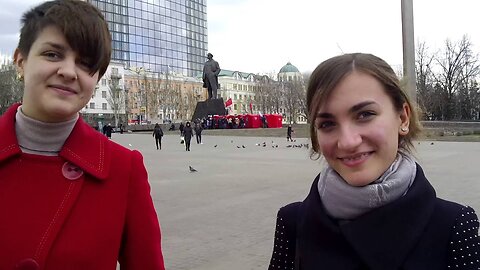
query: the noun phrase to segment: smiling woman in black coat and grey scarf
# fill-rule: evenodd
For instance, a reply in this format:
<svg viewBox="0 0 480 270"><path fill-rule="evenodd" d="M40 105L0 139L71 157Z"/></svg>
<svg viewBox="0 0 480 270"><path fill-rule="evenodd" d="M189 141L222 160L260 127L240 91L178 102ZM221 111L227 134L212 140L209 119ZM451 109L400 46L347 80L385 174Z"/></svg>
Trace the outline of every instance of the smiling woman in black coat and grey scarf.
<svg viewBox="0 0 480 270"><path fill-rule="evenodd" d="M480 269L477 215L437 198L415 162L420 124L385 61L324 61L307 105L326 164L303 202L279 210L269 269Z"/></svg>

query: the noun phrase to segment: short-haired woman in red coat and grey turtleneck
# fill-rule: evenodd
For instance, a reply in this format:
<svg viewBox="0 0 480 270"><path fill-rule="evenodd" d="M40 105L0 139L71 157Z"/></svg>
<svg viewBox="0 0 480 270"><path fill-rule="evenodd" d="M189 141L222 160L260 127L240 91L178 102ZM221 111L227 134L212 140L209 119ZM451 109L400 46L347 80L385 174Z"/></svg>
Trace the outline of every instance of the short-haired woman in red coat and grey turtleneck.
<svg viewBox="0 0 480 270"><path fill-rule="evenodd" d="M22 24L23 102L0 117L0 269L164 269L141 154L79 117L110 61L103 16L59 0Z"/></svg>

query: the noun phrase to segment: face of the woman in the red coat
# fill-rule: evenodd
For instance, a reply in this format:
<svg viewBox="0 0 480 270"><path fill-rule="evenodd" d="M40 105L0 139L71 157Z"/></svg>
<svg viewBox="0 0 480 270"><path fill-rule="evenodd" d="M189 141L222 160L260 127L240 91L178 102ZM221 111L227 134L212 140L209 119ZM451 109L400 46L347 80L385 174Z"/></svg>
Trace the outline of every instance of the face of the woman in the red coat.
<svg viewBox="0 0 480 270"><path fill-rule="evenodd" d="M25 80L22 112L43 122L76 117L92 97L99 76L98 71L90 75L90 63L55 26L40 32L28 57L17 49L15 62Z"/></svg>

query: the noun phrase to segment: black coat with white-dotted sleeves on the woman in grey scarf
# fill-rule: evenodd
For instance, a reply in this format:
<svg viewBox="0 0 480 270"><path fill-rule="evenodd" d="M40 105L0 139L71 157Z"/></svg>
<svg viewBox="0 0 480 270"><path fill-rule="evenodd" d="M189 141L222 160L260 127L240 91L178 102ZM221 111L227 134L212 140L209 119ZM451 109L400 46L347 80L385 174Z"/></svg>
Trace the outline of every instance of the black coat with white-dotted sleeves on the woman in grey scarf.
<svg viewBox="0 0 480 270"><path fill-rule="evenodd" d="M327 216L317 185L278 212L269 269L480 267L475 211L437 198L419 165L406 195L347 223Z"/></svg>

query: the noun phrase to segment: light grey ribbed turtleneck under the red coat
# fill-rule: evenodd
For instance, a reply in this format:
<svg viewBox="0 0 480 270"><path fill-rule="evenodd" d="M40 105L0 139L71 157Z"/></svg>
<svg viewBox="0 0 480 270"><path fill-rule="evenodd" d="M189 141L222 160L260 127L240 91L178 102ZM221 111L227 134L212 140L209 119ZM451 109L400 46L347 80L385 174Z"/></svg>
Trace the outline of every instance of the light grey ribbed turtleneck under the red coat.
<svg viewBox="0 0 480 270"><path fill-rule="evenodd" d="M42 156L58 156L78 120L45 123L26 116L20 106L15 115L15 132L22 152Z"/></svg>

